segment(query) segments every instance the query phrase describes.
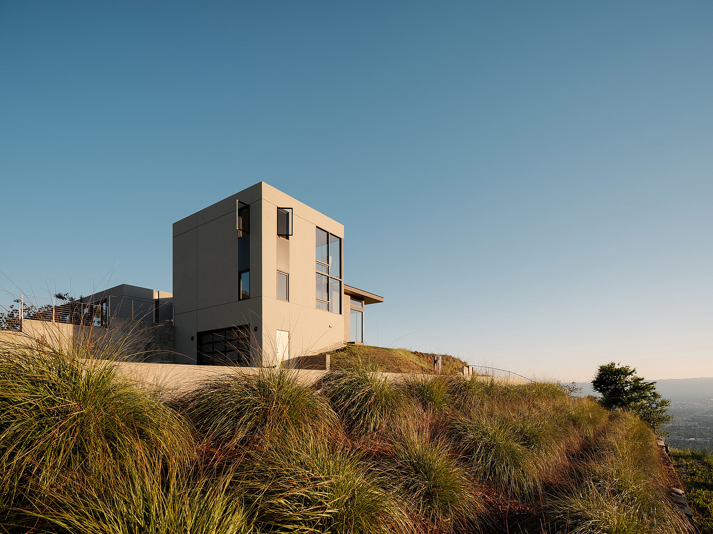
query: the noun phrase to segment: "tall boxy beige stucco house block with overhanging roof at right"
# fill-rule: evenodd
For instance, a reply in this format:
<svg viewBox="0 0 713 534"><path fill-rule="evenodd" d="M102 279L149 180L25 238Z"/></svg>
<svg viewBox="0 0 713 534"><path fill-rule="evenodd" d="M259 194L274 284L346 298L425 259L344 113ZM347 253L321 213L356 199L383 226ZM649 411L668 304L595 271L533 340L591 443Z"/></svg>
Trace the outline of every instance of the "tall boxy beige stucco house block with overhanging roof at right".
<svg viewBox="0 0 713 534"><path fill-rule="evenodd" d="M176 362L294 365L364 340L344 226L260 182L173 224Z"/></svg>

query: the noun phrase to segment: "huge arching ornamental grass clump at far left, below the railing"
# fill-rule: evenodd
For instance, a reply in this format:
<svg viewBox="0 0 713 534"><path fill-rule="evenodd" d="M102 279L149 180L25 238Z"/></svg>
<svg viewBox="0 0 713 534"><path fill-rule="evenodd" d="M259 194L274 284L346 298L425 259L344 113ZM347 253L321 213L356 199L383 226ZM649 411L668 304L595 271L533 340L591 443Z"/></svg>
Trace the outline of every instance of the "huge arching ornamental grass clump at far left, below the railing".
<svg viewBox="0 0 713 534"><path fill-rule="evenodd" d="M34 503L48 488L101 483L146 454L184 464L193 456L183 418L91 356L16 349L0 362L4 506Z"/></svg>

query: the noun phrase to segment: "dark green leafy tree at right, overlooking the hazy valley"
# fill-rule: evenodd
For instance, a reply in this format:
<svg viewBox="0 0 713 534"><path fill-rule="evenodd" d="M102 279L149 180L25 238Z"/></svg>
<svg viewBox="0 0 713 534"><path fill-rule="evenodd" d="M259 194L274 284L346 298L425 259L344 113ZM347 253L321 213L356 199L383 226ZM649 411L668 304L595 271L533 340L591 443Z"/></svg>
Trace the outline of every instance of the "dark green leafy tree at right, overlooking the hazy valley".
<svg viewBox="0 0 713 534"><path fill-rule="evenodd" d="M636 369L628 365L617 365L615 362L600 365L592 387L602 395L600 404L603 407L633 412L654 431L673 419L667 410L671 401L656 391L656 382L646 382L637 377Z"/></svg>

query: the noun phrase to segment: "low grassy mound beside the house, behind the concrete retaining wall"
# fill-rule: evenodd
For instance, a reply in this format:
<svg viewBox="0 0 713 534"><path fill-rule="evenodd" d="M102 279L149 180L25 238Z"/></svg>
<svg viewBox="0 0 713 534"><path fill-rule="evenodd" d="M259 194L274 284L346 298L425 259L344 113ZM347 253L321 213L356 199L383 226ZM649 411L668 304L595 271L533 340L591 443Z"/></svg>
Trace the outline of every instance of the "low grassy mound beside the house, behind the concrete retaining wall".
<svg viewBox="0 0 713 534"><path fill-rule="evenodd" d="M409 372L432 374L434 354L412 352L408 349L388 349L371 345L345 345L330 355L330 365L334 369L345 369L356 365L374 365L384 372ZM458 358L443 355L441 372L461 372L468 365Z"/></svg>

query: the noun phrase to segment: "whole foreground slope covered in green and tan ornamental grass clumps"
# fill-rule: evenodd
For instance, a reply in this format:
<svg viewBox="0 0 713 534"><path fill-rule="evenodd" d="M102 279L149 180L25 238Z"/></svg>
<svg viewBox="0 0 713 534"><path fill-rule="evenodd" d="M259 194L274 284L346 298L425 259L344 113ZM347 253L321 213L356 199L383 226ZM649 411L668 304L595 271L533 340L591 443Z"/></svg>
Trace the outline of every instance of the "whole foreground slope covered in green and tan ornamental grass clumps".
<svg viewBox="0 0 713 534"><path fill-rule="evenodd" d="M98 344L0 352L0 531L689 531L647 426L558 384L361 365L164 398Z"/></svg>

